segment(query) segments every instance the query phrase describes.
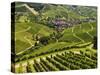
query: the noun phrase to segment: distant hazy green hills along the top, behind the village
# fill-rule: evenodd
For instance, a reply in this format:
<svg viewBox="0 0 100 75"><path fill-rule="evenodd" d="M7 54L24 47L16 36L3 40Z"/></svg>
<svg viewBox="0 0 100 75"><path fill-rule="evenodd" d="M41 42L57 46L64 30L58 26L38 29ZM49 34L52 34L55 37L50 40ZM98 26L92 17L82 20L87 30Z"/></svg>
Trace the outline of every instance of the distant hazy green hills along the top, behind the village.
<svg viewBox="0 0 100 75"><path fill-rule="evenodd" d="M88 6L73 6L73 5L55 5L55 4L41 4L41 3L25 3L34 11L38 12L39 15L32 15L26 7L18 7L23 5L23 3L16 4L16 13L22 13L21 15L27 16L29 20L37 18L38 21L48 21L49 19L64 18L65 20L75 20L84 18L96 18L96 7ZM88 12L87 12L88 11ZM31 14L30 14L31 13ZM18 16L21 16L18 15ZM34 21L34 20L33 20Z"/></svg>

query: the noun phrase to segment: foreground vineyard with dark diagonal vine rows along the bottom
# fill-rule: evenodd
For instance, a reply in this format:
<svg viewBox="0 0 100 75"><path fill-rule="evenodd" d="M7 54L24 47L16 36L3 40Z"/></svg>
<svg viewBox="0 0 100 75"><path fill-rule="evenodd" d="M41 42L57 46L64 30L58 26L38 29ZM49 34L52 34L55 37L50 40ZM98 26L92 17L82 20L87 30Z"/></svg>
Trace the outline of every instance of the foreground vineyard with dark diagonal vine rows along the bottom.
<svg viewBox="0 0 100 75"><path fill-rule="evenodd" d="M16 68L16 73L92 69L97 67L96 57L97 54L91 50L88 52L68 51L34 59L26 65L20 63Z"/></svg>

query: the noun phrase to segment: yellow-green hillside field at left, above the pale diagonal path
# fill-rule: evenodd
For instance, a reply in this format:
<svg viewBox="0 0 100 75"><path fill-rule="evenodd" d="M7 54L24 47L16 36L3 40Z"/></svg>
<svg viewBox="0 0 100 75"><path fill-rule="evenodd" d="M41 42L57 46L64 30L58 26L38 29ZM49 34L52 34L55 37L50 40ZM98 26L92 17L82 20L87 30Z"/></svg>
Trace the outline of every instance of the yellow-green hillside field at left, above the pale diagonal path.
<svg viewBox="0 0 100 75"><path fill-rule="evenodd" d="M33 36L39 34L40 36L49 36L53 33L53 29L37 23L16 23L15 32L15 50L16 53L30 47L30 42L34 45L35 40ZM30 41L28 41L28 40Z"/></svg>

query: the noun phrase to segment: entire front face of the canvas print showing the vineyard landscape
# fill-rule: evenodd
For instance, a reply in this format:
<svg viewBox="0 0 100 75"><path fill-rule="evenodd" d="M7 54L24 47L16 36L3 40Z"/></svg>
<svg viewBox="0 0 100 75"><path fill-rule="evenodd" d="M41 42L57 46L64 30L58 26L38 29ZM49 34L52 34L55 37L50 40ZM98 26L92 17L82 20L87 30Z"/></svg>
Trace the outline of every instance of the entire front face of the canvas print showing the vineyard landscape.
<svg viewBox="0 0 100 75"><path fill-rule="evenodd" d="M12 15L13 72L97 68L96 7L16 2Z"/></svg>

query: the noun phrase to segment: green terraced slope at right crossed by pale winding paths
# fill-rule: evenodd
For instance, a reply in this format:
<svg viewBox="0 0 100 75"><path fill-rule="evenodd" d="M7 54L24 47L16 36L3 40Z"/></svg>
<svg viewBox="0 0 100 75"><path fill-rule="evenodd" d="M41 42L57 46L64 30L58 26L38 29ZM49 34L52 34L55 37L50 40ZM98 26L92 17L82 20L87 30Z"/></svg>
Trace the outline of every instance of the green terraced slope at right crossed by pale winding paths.
<svg viewBox="0 0 100 75"><path fill-rule="evenodd" d="M91 32L93 34L91 34ZM70 33L70 34L69 34ZM90 42L93 37L97 35L96 32L96 22L93 23L83 23L80 25L73 26L71 28L65 29L62 32L63 36L59 39L60 41L67 42Z"/></svg>

